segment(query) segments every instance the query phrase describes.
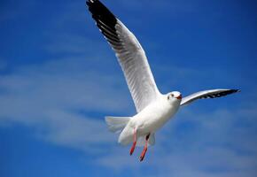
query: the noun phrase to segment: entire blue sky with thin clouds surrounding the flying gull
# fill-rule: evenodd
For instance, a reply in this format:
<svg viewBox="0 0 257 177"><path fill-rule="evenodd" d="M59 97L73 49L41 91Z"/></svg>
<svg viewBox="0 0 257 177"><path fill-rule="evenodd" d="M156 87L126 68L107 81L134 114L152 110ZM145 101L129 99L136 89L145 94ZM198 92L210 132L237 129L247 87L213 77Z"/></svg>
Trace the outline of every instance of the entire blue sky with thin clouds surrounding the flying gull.
<svg viewBox="0 0 257 177"><path fill-rule="evenodd" d="M0 176L256 176L257 4L103 0L136 35L162 93L242 89L184 107L141 149L105 115L136 113L84 1L0 5Z"/></svg>

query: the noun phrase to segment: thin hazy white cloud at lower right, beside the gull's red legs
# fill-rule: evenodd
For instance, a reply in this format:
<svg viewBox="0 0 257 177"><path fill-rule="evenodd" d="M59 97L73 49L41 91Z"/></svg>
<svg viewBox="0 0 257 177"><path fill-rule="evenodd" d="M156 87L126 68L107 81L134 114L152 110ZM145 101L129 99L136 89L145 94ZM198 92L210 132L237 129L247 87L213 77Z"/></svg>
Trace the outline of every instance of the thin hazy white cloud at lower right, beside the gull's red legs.
<svg viewBox="0 0 257 177"><path fill-rule="evenodd" d="M156 135L158 143L150 148L141 167L152 169L153 176L254 176L257 141L253 131L257 129L257 112L216 110L207 114L198 112L197 116L196 112L183 110L161 130ZM242 120L245 115L247 120ZM248 126L238 125L238 122ZM97 162L118 170L138 167L131 158L119 153L122 154L117 152ZM138 176L143 174L137 173Z"/></svg>

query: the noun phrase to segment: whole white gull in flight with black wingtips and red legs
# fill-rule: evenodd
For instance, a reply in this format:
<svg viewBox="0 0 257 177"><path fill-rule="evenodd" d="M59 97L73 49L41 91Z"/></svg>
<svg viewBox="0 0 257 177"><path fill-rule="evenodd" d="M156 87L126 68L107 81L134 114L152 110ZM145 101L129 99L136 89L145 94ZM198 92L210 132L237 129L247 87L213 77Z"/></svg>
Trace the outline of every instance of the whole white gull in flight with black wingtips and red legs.
<svg viewBox="0 0 257 177"><path fill-rule="evenodd" d="M136 106L136 115L132 117L105 117L108 129L114 133L121 133L118 142L122 145L132 143L130 156L136 146L144 146L139 158L143 161L147 147L155 143L155 132L174 117L182 106L198 99L227 96L240 91L209 89L185 97L178 91L161 94L136 36L99 0L87 0L86 4L97 27L118 58Z"/></svg>

